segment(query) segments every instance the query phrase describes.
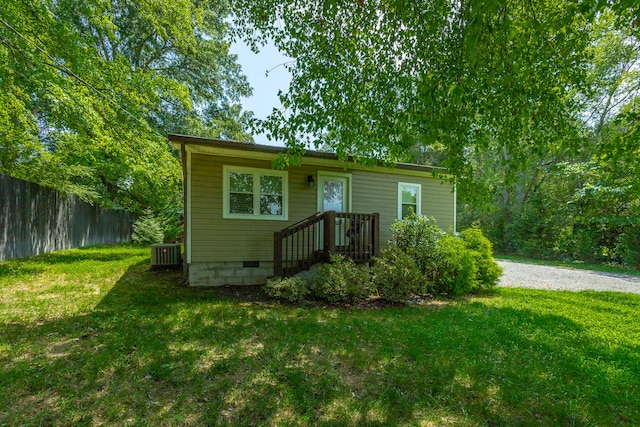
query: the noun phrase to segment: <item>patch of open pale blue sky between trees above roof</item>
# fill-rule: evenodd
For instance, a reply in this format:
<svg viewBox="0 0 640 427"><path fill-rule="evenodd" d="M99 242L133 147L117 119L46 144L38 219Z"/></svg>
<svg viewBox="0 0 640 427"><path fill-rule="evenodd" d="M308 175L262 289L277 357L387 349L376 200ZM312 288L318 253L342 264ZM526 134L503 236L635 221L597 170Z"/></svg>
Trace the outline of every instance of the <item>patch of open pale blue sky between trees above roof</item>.
<svg viewBox="0 0 640 427"><path fill-rule="evenodd" d="M253 88L253 96L242 98L242 107L253 111L258 119L266 118L273 108L281 107L278 90L286 91L291 81L291 75L282 64L290 61L290 58L280 53L273 45L264 46L260 53L255 54L246 44L236 42L231 45L230 51L238 55L242 72ZM264 134L253 137L257 144L284 146L282 142L269 141Z"/></svg>

